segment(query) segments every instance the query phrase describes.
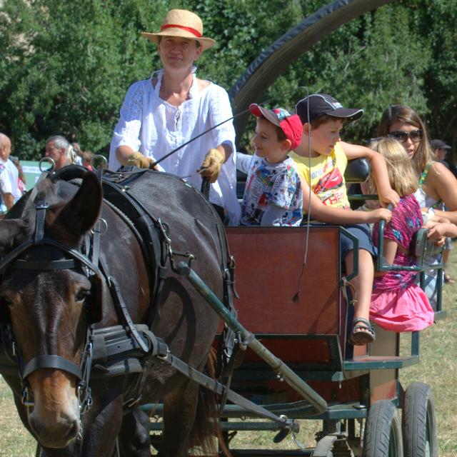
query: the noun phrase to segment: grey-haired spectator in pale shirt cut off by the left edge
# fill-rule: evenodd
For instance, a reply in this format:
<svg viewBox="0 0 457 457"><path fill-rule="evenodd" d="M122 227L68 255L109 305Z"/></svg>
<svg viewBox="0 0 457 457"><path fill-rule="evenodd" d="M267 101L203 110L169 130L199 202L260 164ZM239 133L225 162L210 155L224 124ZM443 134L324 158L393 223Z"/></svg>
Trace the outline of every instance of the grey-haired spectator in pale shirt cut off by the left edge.
<svg viewBox="0 0 457 457"><path fill-rule="evenodd" d="M0 134L0 192L1 214L9 211L18 201L22 192L19 189L19 172L9 159L11 154L11 140L5 134Z"/></svg>

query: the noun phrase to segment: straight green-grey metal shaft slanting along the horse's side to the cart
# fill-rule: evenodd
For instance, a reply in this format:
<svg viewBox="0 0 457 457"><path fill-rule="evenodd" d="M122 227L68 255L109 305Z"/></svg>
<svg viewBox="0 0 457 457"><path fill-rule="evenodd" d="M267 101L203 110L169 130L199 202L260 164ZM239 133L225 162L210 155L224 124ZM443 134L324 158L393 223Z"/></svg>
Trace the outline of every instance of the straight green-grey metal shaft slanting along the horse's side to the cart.
<svg viewBox="0 0 457 457"><path fill-rule="evenodd" d="M224 306L216 294L211 291L211 289L206 286L204 281L201 280L199 275L192 270L187 263L180 262L178 265L178 273L181 276L187 278L187 280L194 286L196 291L205 298L205 300L211 305L211 307L216 311L216 313L221 316L221 318L226 322L226 324L235 332L241 333L243 338L243 343L245 343L249 348L251 348L259 357L266 361L275 373L278 373L278 376L283 378L286 383L288 383L294 391L299 393L303 398L306 398L313 406L316 408L318 414L323 413L327 410L327 402L308 384L303 381L299 376L294 373L291 368L288 368L280 358L277 358L273 353L268 351L268 349L263 346L263 344L256 340L256 337L253 334L244 328L241 323L239 323L234 316L231 315L229 310Z"/></svg>

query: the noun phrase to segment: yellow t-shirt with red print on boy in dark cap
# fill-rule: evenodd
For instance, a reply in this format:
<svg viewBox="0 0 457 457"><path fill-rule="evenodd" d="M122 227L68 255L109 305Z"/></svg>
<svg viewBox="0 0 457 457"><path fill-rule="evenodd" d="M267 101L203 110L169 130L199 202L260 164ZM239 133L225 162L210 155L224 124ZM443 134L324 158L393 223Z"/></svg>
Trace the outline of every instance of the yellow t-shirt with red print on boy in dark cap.
<svg viewBox="0 0 457 457"><path fill-rule="evenodd" d="M306 180L323 204L342 209L351 208L344 181L348 159L341 144L336 143L329 156L311 157L311 160L294 152L289 156L295 162L298 174Z"/></svg>

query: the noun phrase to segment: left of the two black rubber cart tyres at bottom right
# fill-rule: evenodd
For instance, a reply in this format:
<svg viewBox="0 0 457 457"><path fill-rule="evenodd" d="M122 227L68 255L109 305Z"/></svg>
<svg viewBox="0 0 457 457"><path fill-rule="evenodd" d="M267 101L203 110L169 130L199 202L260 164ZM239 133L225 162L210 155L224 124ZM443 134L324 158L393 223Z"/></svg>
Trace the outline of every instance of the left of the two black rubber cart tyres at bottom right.
<svg viewBox="0 0 457 457"><path fill-rule="evenodd" d="M391 401L376 401L368 411L362 457L403 457L401 422Z"/></svg>

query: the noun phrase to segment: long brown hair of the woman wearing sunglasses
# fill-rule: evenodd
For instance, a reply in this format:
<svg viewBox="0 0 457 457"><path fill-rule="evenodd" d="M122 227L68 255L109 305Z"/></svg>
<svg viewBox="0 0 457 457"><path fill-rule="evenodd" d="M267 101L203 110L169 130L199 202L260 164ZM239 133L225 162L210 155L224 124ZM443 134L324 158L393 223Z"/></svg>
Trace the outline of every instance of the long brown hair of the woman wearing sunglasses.
<svg viewBox="0 0 457 457"><path fill-rule="evenodd" d="M381 121L379 121L378 125L378 136L388 136L390 133L389 130L395 122L408 124L409 126L416 127L416 129L421 129L423 131L422 139L419 142L413 159L411 159L417 176L421 176L423 169L426 168L426 164L434 160L426 126L423 124L422 119L418 116L416 111L409 106L391 105L388 106L381 116Z"/></svg>

